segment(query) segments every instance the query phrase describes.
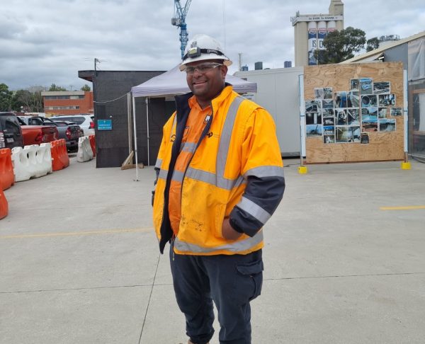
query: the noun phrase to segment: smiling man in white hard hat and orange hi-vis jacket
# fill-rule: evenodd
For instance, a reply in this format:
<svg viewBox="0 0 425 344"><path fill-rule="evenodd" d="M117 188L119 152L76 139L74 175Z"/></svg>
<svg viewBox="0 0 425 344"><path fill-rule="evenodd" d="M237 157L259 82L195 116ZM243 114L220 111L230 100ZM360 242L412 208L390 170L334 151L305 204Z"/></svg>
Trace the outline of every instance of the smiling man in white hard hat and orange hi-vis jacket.
<svg viewBox="0 0 425 344"><path fill-rule="evenodd" d="M164 125L154 193L159 249L171 273L189 344L251 343L249 302L263 282L263 224L285 180L271 115L225 84L232 64L208 35L188 42L180 69L191 93L176 96Z"/></svg>

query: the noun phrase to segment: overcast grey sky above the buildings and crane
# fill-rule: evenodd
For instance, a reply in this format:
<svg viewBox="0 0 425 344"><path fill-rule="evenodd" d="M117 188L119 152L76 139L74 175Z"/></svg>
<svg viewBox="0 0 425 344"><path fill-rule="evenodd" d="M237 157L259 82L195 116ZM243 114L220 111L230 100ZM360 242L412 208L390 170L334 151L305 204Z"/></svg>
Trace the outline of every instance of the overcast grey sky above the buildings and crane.
<svg viewBox="0 0 425 344"><path fill-rule="evenodd" d="M329 13L330 0L193 0L186 17L196 33L222 42L237 70L294 62L290 17ZM366 38L425 30L425 1L343 0L344 27ZM181 0L186 4L185 0ZM10 89L57 84L79 89L79 70L168 70L180 62L173 0L13 0L0 4L0 84ZM91 83L89 83L91 86Z"/></svg>

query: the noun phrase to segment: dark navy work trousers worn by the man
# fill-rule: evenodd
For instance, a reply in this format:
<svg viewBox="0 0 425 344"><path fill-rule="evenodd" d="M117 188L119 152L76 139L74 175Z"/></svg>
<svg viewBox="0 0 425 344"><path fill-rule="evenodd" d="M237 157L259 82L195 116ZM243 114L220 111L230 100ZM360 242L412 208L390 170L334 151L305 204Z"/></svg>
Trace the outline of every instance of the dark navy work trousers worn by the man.
<svg viewBox="0 0 425 344"><path fill-rule="evenodd" d="M186 334L196 344L210 341L217 306L220 344L251 343L249 302L261 293L261 250L247 255L188 256L170 248L177 304L186 316Z"/></svg>

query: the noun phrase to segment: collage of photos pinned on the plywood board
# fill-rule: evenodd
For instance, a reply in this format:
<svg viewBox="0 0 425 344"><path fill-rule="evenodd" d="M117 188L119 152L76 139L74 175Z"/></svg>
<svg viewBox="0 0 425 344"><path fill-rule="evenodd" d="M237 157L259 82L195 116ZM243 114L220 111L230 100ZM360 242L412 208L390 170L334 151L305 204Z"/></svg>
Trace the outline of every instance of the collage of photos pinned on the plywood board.
<svg viewBox="0 0 425 344"><path fill-rule="evenodd" d="M305 132L325 144L360 143L368 132L396 130L390 117L401 116L402 108L395 105L389 81L351 79L350 91L314 88L314 100L305 101Z"/></svg>

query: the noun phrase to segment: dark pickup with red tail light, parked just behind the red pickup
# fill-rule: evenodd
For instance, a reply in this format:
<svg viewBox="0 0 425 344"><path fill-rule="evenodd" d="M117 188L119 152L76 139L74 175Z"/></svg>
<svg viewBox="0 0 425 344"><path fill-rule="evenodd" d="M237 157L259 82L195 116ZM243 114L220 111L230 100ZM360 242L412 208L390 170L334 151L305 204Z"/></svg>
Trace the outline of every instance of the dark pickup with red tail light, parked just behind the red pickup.
<svg viewBox="0 0 425 344"><path fill-rule="evenodd" d="M57 128L59 138L64 139L68 151L78 149L78 139L84 136L83 130L77 123L69 121L52 121L46 117L38 116L19 116L27 125L50 125Z"/></svg>

